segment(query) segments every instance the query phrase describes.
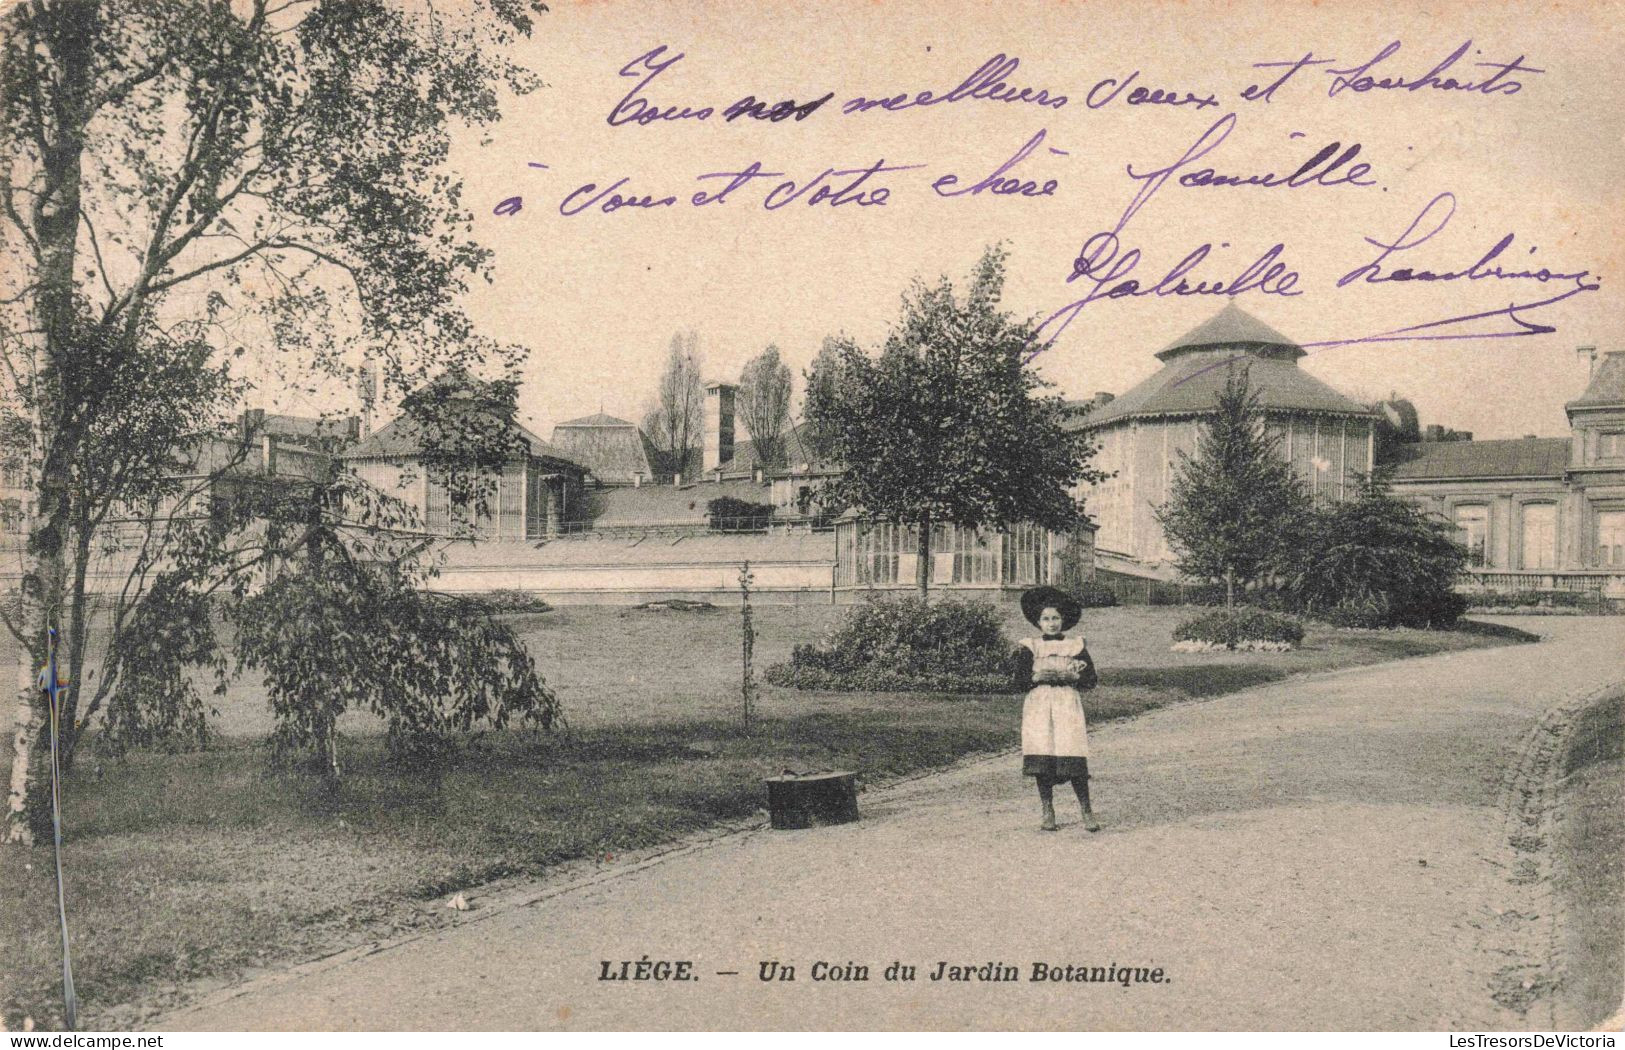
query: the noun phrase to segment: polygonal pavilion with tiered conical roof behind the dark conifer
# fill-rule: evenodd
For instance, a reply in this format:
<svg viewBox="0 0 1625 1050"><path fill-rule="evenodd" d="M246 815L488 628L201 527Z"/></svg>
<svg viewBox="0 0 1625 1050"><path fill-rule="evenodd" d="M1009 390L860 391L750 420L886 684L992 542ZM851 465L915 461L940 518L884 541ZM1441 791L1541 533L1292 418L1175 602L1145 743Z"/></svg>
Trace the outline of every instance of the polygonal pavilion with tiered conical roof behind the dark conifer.
<svg viewBox="0 0 1625 1050"><path fill-rule="evenodd" d="M1110 475L1077 492L1098 527L1100 567L1176 575L1157 510L1235 367L1246 369L1282 455L1316 499L1350 496L1370 473L1376 413L1298 367L1305 351L1233 302L1155 356L1162 367L1121 397L1074 403L1074 426L1098 445L1094 466Z"/></svg>

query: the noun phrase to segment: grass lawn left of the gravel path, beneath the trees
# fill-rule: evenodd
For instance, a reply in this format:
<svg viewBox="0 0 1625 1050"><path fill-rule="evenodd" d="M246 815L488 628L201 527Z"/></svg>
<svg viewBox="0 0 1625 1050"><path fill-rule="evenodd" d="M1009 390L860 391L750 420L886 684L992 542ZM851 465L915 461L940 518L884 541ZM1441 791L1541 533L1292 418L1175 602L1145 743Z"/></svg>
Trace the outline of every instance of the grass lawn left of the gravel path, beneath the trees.
<svg viewBox="0 0 1625 1050"><path fill-rule="evenodd" d="M1011 637L1030 632L1014 606ZM1094 722L1290 675L1505 644L1514 632L1311 629L1287 653L1172 653L1178 608L1089 611L1102 673ZM759 606L757 668L838 616ZM739 621L574 606L512 618L566 705L559 738L502 733L450 767L392 766L353 717L344 783L270 767L254 683L219 701L202 753L81 754L65 793L65 865L81 1026L130 1026L177 982L231 980L273 962L457 920L455 889L668 842L764 803L785 767L856 769L864 783L1017 743L1019 696L832 694L760 688L757 733L736 730ZM1528 636L1524 636L1528 637ZM0 653L0 660L6 660ZM49 852L0 850L0 1008L60 1024ZM120 1006L125 1004L125 1006Z"/></svg>

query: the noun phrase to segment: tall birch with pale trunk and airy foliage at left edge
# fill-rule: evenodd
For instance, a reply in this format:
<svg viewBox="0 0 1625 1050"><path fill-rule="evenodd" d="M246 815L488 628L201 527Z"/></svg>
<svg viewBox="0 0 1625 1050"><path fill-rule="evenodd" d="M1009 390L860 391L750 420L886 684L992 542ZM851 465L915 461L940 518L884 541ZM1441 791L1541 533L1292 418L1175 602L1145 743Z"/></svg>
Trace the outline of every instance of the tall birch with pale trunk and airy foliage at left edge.
<svg viewBox="0 0 1625 1050"><path fill-rule="evenodd" d="M0 382L32 496L6 837L47 819L29 683L47 624L83 652L65 619L98 528L88 465L143 411L128 392L154 358L314 392L370 353L396 393L447 364L517 364L460 306L489 252L444 161L453 128L535 86L499 55L544 7L448 7L26 0L0 16Z"/></svg>

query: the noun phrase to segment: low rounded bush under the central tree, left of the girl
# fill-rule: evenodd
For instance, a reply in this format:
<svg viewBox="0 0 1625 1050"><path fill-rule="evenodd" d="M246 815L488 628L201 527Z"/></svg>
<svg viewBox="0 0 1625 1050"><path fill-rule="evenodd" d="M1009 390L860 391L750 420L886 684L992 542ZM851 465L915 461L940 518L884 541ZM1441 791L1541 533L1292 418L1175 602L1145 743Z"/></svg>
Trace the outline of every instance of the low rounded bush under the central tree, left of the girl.
<svg viewBox="0 0 1625 1050"><path fill-rule="evenodd" d="M991 605L873 597L765 678L796 689L1001 692L1011 649Z"/></svg>

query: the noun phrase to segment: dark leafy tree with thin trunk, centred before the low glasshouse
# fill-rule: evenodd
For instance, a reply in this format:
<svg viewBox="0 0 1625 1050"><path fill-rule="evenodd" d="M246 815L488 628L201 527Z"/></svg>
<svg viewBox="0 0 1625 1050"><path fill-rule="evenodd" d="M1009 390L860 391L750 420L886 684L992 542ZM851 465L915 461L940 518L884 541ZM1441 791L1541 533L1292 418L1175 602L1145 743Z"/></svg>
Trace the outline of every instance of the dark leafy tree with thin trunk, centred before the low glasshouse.
<svg viewBox="0 0 1625 1050"><path fill-rule="evenodd" d="M1103 478L1064 401L1022 364L1034 327L999 309L1004 260L988 249L964 293L946 276L915 283L878 354L838 340L826 351L838 382L808 388L808 421L845 466L830 496L916 528L921 592L933 522L1064 532L1084 520L1074 489Z"/></svg>

